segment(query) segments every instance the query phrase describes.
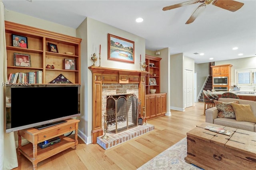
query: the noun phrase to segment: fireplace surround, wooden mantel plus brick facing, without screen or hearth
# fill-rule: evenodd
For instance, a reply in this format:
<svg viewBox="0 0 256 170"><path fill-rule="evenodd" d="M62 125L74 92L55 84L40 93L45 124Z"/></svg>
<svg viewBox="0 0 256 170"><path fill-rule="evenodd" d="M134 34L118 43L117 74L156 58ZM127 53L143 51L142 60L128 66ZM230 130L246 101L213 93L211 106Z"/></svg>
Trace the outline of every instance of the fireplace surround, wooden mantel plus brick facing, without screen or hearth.
<svg viewBox="0 0 256 170"><path fill-rule="evenodd" d="M92 143L103 135L104 113L107 96L135 94L145 106L146 74L136 70L120 70L97 66L88 67L92 72Z"/></svg>

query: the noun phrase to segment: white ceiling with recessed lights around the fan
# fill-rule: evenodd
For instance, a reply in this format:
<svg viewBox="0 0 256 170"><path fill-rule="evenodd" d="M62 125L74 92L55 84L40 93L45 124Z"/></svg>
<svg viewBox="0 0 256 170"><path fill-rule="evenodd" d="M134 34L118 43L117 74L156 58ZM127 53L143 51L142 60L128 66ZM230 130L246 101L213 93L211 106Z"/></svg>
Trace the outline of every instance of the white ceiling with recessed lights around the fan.
<svg viewBox="0 0 256 170"><path fill-rule="evenodd" d="M244 6L236 12L209 4L190 24L185 23L201 3L163 11L165 6L186 0L2 1L6 10L72 28L89 17L145 38L148 50L170 47L171 55L184 53L195 63L256 56L256 0L237 0ZM138 17L144 21L136 23ZM238 50L232 50L233 47Z"/></svg>

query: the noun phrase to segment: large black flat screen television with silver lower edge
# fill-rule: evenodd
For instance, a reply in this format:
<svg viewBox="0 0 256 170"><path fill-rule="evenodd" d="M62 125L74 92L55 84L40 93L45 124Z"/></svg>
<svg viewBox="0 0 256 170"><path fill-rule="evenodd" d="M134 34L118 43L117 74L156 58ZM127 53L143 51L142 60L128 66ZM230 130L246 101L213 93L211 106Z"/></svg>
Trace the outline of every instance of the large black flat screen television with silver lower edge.
<svg viewBox="0 0 256 170"><path fill-rule="evenodd" d="M43 129L79 115L79 85L6 87L6 133Z"/></svg>

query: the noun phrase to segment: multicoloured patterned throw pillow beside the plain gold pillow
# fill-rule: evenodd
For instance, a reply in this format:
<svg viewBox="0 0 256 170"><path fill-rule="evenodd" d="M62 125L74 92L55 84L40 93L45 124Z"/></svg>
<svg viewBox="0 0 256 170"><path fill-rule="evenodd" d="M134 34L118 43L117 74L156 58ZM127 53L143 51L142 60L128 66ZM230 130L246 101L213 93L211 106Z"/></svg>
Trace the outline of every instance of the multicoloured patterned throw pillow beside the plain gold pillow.
<svg viewBox="0 0 256 170"><path fill-rule="evenodd" d="M225 103L225 102L220 102L218 100L214 100L214 104L219 111L217 117L236 119L234 109L230 103L239 104L239 101Z"/></svg>

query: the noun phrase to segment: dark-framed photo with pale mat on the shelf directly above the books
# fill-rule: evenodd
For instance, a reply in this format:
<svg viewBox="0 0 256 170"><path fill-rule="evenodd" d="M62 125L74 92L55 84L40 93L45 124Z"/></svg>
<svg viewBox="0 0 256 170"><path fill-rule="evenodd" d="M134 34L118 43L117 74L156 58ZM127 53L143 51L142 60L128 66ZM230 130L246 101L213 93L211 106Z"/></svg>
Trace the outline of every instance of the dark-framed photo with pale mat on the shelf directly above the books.
<svg viewBox="0 0 256 170"><path fill-rule="evenodd" d="M29 54L14 53L14 66L31 67L31 59Z"/></svg>

